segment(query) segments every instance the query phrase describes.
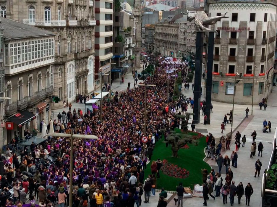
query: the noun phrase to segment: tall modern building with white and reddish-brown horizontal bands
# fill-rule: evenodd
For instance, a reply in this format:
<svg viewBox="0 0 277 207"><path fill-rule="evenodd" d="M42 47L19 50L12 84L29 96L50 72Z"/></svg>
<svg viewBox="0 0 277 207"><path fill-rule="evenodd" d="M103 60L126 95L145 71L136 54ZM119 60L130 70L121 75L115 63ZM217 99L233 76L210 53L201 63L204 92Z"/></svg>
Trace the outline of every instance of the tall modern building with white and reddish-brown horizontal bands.
<svg viewBox="0 0 277 207"><path fill-rule="evenodd" d="M95 73L111 75L111 58L113 56L113 0L95 1ZM100 70L99 70L100 69ZM100 77L96 84L100 84ZM109 82L108 76L103 76L103 83Z"/></svg>

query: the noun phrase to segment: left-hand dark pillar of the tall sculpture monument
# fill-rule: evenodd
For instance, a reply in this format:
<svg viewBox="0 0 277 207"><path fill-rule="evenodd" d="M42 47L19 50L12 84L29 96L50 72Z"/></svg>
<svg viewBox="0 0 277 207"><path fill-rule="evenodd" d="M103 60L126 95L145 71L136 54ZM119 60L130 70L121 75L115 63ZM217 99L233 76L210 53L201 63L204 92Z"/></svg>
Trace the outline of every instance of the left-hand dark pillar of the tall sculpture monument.
<svg viewBox="0 0 277 207"><path fill-rule="evenodd" d="M202 58L203 58L203 32L196 33L196 53L195 53L195 71L194 71L194 106L193 122L200 122L200 98L201 98L201 78L202 78Z"/></svg>

